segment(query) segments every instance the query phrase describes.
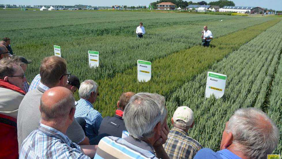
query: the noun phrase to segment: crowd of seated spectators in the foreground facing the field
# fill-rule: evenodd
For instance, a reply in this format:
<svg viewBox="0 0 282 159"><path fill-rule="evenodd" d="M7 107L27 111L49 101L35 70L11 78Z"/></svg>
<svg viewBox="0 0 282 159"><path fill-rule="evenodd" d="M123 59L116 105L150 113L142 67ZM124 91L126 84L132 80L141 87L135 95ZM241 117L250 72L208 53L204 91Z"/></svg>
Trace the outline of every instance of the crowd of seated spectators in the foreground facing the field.
<svg viewBox="0 0 282 159"><path fill-rule="evenodd" d="M93 108L103 90L95 81L80 83L65 59L50 56L29 84L32 61L13 56L7 39L0 44L0 158L265 159L277 147L277 126L256 108L234 112L217 152L189 136L197 123L187 106L175 110L169 130L166 100L157 93L122 93L114 117L102 118Z"/></svg>

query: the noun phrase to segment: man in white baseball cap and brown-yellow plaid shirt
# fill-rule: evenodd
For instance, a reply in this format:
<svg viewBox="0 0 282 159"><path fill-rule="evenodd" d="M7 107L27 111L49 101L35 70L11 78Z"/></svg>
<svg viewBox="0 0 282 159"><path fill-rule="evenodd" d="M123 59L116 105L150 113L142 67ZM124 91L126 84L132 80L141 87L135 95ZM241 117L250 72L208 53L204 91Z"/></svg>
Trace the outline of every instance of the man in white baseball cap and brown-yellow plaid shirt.
<svg viewBox="0 0 282 159"><path fill-rule="evenodd" d="M198 141L188 136L189 128L194 125L193 111L187 107L178 107L171 118L173 125L168 134L168 140L163 145L166 153L171 159L192 159L202 149Z"/></svg>

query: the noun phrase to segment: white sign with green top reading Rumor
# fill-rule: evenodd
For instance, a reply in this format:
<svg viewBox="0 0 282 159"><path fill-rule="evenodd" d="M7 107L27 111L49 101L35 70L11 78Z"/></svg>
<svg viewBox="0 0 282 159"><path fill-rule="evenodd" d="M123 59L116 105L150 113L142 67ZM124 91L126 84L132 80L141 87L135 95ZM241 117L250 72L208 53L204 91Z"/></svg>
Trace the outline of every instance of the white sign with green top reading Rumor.
<svg viewBox="0 0 282 159"><path fill-rule="evenodd" d="M208 72L206 97L209 98L214 94L217 99L221 98L224 95L226 78L226 75Z"/></svg>

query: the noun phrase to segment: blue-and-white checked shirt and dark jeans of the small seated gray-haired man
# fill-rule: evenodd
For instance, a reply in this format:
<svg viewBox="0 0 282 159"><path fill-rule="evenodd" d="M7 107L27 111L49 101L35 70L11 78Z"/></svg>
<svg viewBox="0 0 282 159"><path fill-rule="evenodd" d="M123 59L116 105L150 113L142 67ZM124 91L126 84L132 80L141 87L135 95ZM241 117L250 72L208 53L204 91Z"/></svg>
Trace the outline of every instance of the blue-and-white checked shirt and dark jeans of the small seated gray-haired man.
<svg viewBox="0 0 282 159"><path fill-rule="evenodd" d="M74 117L82 117L86 121L85 135L91 140L98 135L103 120L102 115L93 109L93 105L85 99L80 98L77 103Z"/></svg>

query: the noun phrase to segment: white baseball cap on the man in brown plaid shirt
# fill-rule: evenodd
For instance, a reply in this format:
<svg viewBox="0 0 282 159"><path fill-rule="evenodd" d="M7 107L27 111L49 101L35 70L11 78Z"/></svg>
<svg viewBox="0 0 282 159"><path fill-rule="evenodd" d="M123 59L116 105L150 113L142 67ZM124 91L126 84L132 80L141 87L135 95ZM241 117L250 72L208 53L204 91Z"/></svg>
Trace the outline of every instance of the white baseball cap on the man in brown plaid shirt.
<svg viewBox="0 0 282 159"><path fill-rule="evenodd" d="M179 123L177 120L182 120L186 124ZM177 125L180 125L183 127L191 126L194 121L194 113L187 106L178 107L173 114L173 121Z"/></svg>

